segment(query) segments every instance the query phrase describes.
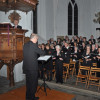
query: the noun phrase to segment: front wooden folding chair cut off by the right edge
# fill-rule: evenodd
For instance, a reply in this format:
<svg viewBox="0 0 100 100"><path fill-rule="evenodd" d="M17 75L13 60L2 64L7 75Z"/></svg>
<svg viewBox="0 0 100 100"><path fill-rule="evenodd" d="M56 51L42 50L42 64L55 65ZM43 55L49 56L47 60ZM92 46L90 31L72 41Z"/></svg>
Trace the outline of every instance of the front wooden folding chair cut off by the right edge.
<svg viewBox="0 0 100 100"><path fill-rule="evenodd" d="M97 74L97 72L100 73L100 68L91 67L90 75L89 75L89 78L88 78L88 87L89 87L89 85L98 86L98 91L99 91L99 88L100 88L100 77L94 76L93 72L96 73L96 74Z"/></svg>

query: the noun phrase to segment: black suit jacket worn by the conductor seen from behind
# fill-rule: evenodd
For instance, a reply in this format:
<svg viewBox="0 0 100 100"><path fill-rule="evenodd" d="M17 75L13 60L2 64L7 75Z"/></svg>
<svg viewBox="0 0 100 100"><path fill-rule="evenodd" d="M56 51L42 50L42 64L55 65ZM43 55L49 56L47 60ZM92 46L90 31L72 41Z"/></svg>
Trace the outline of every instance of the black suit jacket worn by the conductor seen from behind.
<svg viewBox="0 0 100 100"><path fill-rule="evenodd" d="M38 70L38 54L44 55L45 52L38 48L38 45L29 41L23 47L23 73L33 73Z"/></svg>

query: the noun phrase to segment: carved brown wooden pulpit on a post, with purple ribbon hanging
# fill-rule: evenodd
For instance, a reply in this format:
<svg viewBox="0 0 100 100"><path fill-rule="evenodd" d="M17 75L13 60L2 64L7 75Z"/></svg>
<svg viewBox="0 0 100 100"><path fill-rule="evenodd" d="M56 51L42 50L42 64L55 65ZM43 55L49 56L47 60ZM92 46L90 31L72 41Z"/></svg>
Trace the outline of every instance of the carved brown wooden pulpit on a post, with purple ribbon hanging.
<svg viewBox="0 0 100 100"><path fill-rule="evenodd" d="M8 66L10 86L14 86L14 66L23 60L23 45L27 31L14 29L8 23L0 24L0 69L4 64Z"/></svg>

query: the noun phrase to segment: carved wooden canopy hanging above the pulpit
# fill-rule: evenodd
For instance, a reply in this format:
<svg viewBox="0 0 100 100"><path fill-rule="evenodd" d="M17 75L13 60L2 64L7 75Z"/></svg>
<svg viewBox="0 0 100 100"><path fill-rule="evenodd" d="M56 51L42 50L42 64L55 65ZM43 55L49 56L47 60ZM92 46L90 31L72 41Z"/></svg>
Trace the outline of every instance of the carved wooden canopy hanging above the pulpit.
<svg viewBox="0 0 100 100"><path fill-rule="evenodd" d="M20 10L29 12L36 8L38 0L0 0L0 11Z"/></svg>

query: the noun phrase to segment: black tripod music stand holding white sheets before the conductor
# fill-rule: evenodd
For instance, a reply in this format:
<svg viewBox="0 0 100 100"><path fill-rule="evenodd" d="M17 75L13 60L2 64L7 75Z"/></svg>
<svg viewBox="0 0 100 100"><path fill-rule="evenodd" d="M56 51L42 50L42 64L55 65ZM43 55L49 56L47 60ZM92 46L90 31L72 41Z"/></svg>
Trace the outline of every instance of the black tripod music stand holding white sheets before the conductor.
<svg viewBox="0 0 100 100"><path fill-rule="evenodd" d="M41 56L41 57L38 58L38 61L41 61L42 62L42 66L43 66L43 84L40 86L40 88L37 90L37 92L40 89L43 90L42 87L44 87L44 90L43 91L46 93L46 96L47 96L46 87L49 88L49 86L45 83L44 63L47 62L50 58L51 58L51 56L49 56L49 55Z"/></svg>

